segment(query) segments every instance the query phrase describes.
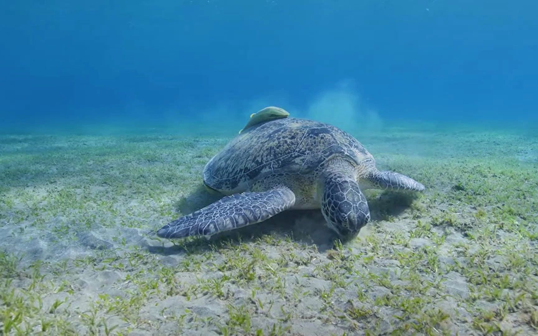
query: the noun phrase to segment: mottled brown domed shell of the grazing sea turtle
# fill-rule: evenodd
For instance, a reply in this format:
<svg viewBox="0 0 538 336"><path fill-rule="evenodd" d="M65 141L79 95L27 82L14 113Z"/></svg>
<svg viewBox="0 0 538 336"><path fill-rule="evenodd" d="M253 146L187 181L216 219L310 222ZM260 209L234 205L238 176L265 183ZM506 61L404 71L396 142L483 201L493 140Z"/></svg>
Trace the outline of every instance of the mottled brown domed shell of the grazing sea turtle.
<svg viewBox="0 0 538 336"><path fill-rule="evenodd" d="M350 134L318 121L285 118L239 134L208 162L204 183L237 190L271 174L309 174L334 154L359 163L372 158Z"/></svg>

